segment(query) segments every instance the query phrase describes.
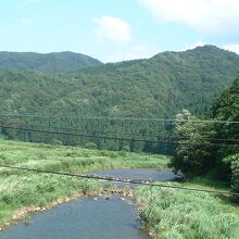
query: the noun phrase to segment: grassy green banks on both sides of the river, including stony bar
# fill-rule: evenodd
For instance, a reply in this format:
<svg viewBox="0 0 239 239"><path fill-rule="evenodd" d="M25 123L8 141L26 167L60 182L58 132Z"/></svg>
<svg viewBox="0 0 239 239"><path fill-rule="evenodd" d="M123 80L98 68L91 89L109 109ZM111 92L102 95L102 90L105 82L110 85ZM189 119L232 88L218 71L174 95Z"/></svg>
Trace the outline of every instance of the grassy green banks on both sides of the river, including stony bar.
<svg viewBox="0 0 239 239"><path fill-rule="evenodd" d="M166 167L167 158L72 147L0 141L0 164L55 172L85 173L110 168ZM239 235L239 209L228 198L204 192L140 187L118 189L93 179L79 179L15 169L0 169L0 227L83 197L112 193L134 197L143 228L153 238L231 238ZM203 181L203 184L202 184ZM165 184L165 183L164 183ZM177 183L171 183L177 184ZM179 186L228 191L217 183L194 179ZM136 193L135 193L136 192Z"/></svg>

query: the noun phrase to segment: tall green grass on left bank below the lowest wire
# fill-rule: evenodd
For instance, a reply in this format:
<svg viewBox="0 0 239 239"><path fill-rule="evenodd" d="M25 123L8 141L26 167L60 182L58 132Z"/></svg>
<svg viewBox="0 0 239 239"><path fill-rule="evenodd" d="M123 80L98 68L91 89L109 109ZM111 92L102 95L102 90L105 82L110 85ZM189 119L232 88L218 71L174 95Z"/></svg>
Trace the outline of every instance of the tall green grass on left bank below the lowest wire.
<svg viewBox="0 0 239 239"><path fill-rule="evenodd" d="M46 206L60 198L100 190L96 180L77 179L59 175L27 174L1 178L0 226L10 221L18 209L35 205Z"/></svg>

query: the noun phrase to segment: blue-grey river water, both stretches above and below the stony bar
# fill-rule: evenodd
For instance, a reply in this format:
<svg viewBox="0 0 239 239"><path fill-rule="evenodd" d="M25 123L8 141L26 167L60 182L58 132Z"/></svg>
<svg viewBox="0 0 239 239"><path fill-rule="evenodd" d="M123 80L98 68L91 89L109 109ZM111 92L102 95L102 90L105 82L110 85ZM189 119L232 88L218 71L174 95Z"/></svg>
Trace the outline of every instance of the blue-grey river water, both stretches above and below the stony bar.
<svg viewBox="0 0 239 239"><path fill-rule="evenodd" d="M113 177L173 180L169 169L113 169L90 174ZM59 206L36 213L29 225L18 223L7 231L0 232L0 239L147 239L137 222L138 211L130 201L113 196L110 200L77 199Z"/></svg>

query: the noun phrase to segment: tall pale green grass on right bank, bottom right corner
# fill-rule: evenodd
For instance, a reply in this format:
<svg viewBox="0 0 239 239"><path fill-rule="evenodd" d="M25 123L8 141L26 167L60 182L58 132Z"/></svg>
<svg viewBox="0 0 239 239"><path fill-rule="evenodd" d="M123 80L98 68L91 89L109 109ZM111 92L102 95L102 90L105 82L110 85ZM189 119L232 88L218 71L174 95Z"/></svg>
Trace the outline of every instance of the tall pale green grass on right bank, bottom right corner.
<svg viewBox="0 0 239 239"><path fill-rule="evenodd" d="M140 187L136 198L140 221L154 238L238 238L238 207L209 193Z"/></svg>

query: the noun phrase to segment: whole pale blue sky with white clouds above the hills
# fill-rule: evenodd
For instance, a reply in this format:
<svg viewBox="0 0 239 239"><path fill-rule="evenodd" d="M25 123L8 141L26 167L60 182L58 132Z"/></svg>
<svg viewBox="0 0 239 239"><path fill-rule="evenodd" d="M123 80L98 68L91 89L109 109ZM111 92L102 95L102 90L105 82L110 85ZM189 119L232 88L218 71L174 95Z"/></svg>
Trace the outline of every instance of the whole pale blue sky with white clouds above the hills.
<svg viewBox="0 0 239 239"><path fill-rule="evenodd" d="M1 0L0 51L102 62L214 45L239 54L238 0Z"/></svg>

